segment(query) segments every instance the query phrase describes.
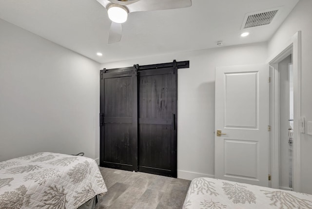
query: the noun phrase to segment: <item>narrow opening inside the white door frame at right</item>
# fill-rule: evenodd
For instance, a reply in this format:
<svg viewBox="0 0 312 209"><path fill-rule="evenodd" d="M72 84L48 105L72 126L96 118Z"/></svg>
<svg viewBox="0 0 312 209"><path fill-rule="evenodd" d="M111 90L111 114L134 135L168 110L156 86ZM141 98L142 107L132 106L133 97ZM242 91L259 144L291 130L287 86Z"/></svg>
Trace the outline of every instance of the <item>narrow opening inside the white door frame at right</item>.
<svg viewBox="0 0 312 209"><path fill-rule="evenodd" d="M278 189L292 190L293 69L292 54L273 67L278 71ZM272 87L272 86L271 86Z"/></svg>

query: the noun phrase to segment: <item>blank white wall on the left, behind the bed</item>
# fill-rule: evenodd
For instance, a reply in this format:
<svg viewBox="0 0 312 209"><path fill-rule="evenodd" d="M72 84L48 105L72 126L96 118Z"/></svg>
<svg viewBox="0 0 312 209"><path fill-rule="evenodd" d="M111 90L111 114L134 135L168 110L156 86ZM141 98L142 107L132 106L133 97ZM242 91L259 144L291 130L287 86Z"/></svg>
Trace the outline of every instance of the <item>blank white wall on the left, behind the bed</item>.
<svg viewBox="0 0 312 209"><path fill-rule="evenodd" d="M35 152L97 158L99 63L2 19L0 31L0 161Z"/></svg>

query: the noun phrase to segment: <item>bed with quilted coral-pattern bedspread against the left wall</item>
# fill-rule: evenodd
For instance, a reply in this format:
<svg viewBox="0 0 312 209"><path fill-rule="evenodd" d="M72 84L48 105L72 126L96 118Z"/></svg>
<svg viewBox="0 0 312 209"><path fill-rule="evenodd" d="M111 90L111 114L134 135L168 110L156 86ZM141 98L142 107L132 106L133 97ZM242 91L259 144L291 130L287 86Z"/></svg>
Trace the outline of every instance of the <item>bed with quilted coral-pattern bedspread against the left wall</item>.
<svg viewBox="0 0 312 209"><path fill-rule="evenodd" d="M95 160L39 152L0 162L0 209L77 209L107 188Z"/></svg>

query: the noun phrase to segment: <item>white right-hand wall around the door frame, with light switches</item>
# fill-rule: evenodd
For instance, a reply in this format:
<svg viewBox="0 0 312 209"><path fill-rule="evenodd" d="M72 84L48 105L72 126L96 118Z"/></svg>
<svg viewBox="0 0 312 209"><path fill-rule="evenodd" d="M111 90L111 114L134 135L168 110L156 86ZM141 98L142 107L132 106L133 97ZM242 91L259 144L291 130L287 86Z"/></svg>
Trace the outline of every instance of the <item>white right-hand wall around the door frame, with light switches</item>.
<svg viewBox="0 0 312 209"><path fill-rule="evenodd" d="M312 0L300 0L268 44L269 57L302 31L301 115L312 121ZM306 124L307 125L307 124ZM312 194L312 136L301 134L301 191Z"/></svg>

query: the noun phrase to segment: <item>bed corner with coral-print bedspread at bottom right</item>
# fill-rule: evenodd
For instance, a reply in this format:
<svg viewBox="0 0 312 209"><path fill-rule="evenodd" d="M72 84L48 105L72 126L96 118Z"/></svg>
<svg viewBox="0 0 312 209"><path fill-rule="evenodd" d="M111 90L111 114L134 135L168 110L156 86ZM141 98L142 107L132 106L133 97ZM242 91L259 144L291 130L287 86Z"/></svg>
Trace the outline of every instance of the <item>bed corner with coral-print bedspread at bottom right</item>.
<svg viewBox="0 0 312 209"><path fill-rule="evenodd" d="M183 209L312 209L312 195L196 178L191 182Z"/></svg>

